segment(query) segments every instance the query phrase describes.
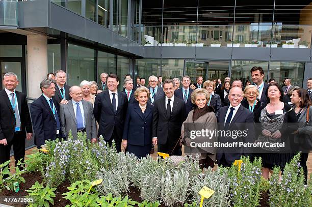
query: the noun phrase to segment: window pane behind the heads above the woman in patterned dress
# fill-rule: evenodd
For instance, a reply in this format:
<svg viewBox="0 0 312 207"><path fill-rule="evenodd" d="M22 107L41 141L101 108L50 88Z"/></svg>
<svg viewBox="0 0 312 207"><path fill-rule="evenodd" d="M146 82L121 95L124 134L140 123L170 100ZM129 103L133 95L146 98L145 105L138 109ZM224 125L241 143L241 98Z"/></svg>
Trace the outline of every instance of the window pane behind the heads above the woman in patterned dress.
<svg viewBox="0 0 312 207"><path fill-rule="evenodd" d="M274 78L275 82L283 84L285 78L292 80L292 85L302 87L304 75L304 63L292 62L271 62L270 78Z"/></svg>

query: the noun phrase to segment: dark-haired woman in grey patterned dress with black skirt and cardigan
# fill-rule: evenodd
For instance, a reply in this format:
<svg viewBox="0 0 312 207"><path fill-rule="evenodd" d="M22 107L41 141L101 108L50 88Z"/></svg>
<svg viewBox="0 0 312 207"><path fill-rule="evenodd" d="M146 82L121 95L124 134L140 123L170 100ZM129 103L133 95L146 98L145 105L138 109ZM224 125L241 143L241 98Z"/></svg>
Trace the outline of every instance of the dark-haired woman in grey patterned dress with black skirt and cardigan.
<svg viewBox="0 0 312 207"><path fill-rule="evenodd" d="M293 158L293 154L289 152L289 143L291 133L296 131L297 127L288 123L297 123L297 119L294 109L283 103L283 90L278 84L270 84L266 95L268 102L259 108L255 122L261 123L257 141L270 143L262 147L261 154L262 175L269 179L275 165L283 170L285 164ZM284 147L279 147L278 143L285 143Z"/></svg>

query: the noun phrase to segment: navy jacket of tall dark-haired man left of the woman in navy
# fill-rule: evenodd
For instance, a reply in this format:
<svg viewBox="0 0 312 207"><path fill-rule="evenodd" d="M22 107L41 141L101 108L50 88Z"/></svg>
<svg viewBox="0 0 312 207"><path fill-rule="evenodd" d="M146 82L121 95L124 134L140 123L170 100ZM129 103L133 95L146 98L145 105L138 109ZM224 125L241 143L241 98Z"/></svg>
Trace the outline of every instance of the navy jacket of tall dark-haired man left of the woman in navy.
<svg viewBox="0 0 312 207"><path fill-rule="evenodd" d="M109 91L99 93L95 97L93 109L95 120L99 125L98 135L102 135L105 140L110 140L116 128L118 138L121 140L127 107L128 100L125 93L118 92L116 112L114 112Z"/></svg>

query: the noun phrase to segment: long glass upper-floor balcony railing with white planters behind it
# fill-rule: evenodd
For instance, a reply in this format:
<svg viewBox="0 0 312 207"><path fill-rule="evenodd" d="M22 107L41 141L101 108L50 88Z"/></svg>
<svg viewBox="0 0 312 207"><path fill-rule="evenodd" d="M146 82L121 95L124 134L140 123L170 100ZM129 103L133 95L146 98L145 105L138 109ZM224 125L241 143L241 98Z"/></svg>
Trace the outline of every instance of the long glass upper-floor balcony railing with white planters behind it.
<svg viewBox="0 0 312 207"><path fill-rule="evenodd" d="M144 26L144 46L311 48L312 25Z"/></svg>

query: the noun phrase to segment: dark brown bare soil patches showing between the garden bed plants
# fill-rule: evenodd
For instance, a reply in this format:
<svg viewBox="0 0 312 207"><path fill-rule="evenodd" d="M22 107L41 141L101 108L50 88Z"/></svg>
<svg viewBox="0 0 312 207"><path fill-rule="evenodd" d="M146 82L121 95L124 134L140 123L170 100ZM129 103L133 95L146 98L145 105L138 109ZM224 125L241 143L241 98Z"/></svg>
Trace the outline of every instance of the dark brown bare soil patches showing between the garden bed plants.
<svg viewBox="0 0 312 207"><path fill-rule="evenodd" d="M27 196L28 192L26 192L25 190L28 190L29 188L32 187L32 185L35 184L36 181L38 181L39 183L42 182L42 177L41 177L41 173L39 171L37 172L32 172L32 173L26 173L22 175L23 178L25 179L25 183L21 183L19 185L19 191L17 193L15 193L14 191L10 191L10 190L3 190L2 192L0 192L0 196L4 196L4 197L10 197L10 196L14 196L14 197L20 197L20 196ZM70 204L69 200L66 200L65 198L63 198L63 193L68 192L67 187L70 186L70 182L69 181L65 181L63 184L61 184L58 189L55 191L56 197L54 198L54 206L56 207L63 207L66 206L67 204ZM130 186L129 187L129 193L128 193L129 198L131 198L132 200L138 201L138 202L142 202L142 198L140 197L140 191L133 187ZM260 205L259 207L269 207L268 203L268 199L269 199L269 195L267 192L262 192L262 196L261 196L261 200L260 200ZM12 205L12 206L16 206L16 207L24 207L27 206L27 204L24 203L3 203L3 204L7 204L7 205ZM162 203L160 205L161 207L165 207L166 205L164 203ZM180 204L177 203L176 206L182 206Z"/></svg>

